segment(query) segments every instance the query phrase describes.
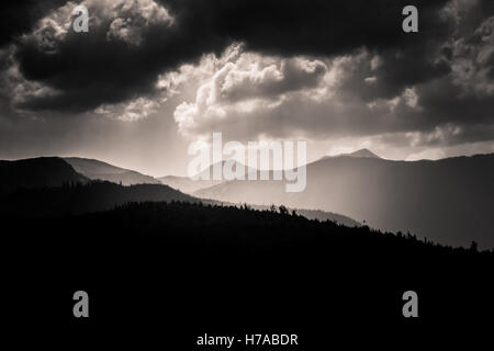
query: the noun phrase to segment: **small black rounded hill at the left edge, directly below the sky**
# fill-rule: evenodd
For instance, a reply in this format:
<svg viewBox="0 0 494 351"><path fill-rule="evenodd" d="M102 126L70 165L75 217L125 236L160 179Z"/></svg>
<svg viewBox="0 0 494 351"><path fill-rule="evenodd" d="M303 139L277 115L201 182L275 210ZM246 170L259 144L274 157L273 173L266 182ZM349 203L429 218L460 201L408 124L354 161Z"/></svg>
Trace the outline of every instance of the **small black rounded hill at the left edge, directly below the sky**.
<svg viewBox="0 0 494 351"><path fill-rule="evenodd" d="M0 191L59 186L88 179L57 157L40 157L15 161L0 161Z"/></svg>

